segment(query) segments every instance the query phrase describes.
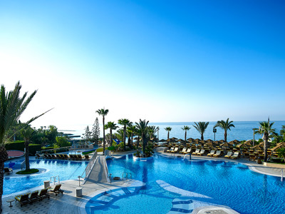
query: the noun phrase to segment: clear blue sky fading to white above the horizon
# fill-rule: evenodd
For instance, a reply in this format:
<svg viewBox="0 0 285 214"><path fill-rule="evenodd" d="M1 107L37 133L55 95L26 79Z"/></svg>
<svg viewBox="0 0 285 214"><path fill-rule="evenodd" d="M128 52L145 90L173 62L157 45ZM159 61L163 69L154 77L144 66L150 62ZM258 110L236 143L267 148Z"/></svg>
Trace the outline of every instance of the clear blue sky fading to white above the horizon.
<svg viewBox="0 0 285 214"><path fill-rule="evenodd" d="M285 120L284 1L0 0L1 84L22 121Z"/></svg>

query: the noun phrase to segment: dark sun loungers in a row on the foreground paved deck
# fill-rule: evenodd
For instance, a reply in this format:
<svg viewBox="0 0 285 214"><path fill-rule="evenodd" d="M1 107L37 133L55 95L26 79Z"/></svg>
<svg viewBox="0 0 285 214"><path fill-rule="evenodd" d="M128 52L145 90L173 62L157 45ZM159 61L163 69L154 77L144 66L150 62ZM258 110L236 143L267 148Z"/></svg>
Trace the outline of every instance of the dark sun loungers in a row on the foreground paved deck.
<svg viewBox="0 0 285 214"><path fill-rule="evenodd" d="M58 184L53 188L53 190L50 190L53 193L63 194L63 190L61 190L61 184ZM38 200L43 200L44 198L50 198L50 195L48 195L48 188L42 189L40 192L38 190L33 191L32 193L24 193L23 195L16 195L15 200L18 201L21 206L26 204L32 204L33 202L36 202Z"/></svg>

